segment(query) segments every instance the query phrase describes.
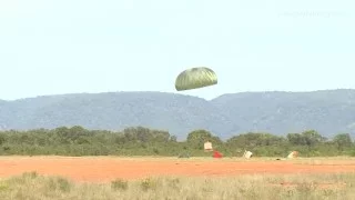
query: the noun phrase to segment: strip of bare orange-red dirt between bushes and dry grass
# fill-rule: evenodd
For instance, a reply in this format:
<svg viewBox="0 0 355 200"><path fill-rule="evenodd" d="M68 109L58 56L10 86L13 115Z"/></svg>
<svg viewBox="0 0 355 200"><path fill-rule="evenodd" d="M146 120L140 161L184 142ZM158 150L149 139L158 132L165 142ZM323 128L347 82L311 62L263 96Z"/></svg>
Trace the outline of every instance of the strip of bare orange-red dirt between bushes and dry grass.
<svg viewBox="0 0 355 200"><path fill-rule="evenodd" d="M253 173L355 172L355 160L322 161L316 164L293 161L251 161L233 159L179 160L115 157L0 157L0 178L37 171L77 181L103 182L115 178L149 176L237 176ZM310 161L308 161L310 162ZM311 162L310 162L311 163Z"/></svg>

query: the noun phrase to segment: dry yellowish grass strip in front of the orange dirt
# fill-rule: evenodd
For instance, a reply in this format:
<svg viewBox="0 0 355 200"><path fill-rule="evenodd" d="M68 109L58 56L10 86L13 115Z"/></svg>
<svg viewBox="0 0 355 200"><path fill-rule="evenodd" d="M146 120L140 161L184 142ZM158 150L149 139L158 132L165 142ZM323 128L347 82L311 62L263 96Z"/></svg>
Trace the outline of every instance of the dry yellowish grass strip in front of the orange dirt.
<svg viewBox="0 0 355 200"><path fill-rule="evenodd" d="M353 200L355 173L240 176L227 178L155 177L74 183L37 172L0 180L0 199L132 200L132 199L245 199L245 200Z"/></svg>

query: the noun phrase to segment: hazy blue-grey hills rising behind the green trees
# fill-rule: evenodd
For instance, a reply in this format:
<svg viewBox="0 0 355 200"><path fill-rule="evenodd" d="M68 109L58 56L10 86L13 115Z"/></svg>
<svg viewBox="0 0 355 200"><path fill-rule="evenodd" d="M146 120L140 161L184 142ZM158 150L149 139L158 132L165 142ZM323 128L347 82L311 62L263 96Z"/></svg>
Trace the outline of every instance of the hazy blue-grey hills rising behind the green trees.
<svg viewBox="0 0 355 200"><path fill-rule="evenodd" d="M246 131L275 134L316 129L331 137L355 136L355 90L243 92L211 101L164 92L108 92L0 100L0 129L80 124L121 130L131 126L165 129L179 139L193 129L221 138Z"/></svg>

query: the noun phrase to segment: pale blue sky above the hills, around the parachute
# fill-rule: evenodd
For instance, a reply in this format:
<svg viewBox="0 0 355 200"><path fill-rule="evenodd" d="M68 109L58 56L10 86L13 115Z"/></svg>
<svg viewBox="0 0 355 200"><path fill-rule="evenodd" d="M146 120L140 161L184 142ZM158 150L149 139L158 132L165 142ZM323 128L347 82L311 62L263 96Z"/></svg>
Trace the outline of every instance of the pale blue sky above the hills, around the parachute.
<svg viewBox="0 0 355 200"><path fill-rule="evenodd" d="M0 99L355 88L351 0L0 0ZM178 92L209 67L219 84Z"/></svg>

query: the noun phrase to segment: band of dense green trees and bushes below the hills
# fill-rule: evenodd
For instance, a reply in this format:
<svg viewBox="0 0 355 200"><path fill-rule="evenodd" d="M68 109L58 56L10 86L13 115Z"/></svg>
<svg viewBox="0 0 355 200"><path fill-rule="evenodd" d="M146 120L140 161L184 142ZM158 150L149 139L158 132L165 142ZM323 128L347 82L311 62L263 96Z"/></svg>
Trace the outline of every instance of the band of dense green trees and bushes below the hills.
<svg viewBox="0 0 355 200"><path fill-rule="evenodd" d="M250 150L255 157L286 157L296 150L302 157L355 156L355 143L348 133L327 139L315 130L288 133L242 133L225 141L206 130L195 130L185 141L178 141L168 131L143 127L126 128L121 132L88 130L79 126L28 131L1 131L0 154L58 156L173 156L211 157L203 143L211 141L224 156L240 157Z"/></svg>

